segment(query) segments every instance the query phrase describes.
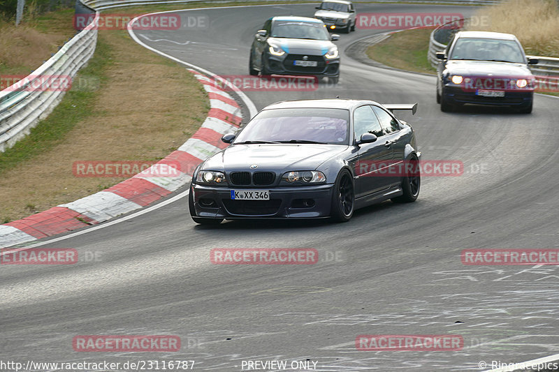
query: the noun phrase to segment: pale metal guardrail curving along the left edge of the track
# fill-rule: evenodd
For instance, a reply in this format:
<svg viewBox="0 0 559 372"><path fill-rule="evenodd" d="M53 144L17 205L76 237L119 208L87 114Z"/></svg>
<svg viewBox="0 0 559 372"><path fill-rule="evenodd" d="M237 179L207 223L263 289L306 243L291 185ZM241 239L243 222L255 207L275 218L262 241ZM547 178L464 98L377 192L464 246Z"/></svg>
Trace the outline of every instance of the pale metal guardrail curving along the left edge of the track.
<svg viewBox="0 0 559 372"><path fill-rule="evenodd" d="M78 7L76 7L78 9ZM95 51L97 30L93 22L69 40L48 61L17 84L0 91L0 152L27 135L38 121L56 107L66 89L48 87L45 80L71 80Z"/></svg>

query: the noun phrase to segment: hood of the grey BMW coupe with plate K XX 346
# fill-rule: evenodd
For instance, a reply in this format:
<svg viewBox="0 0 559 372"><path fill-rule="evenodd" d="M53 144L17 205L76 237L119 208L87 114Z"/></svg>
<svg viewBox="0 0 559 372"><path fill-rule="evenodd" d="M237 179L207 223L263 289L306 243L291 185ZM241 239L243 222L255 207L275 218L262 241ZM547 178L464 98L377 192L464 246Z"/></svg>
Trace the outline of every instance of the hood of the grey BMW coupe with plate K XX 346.
<svg viewBox="0 0 559 372"><path fill-rule="evenodd" d="M202 169L231 172L257 165L252 170L315 170L347 148L338 144L234 144L205 161Z"/></svg>

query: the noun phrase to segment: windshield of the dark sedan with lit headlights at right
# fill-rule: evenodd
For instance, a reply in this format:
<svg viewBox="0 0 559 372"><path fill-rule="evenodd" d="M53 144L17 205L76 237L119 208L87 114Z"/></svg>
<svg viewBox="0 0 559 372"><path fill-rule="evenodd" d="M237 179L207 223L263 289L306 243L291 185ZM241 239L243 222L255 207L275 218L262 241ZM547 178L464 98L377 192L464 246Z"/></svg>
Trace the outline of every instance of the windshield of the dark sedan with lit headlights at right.
<svg viewBox="0 0 559 372"><path fill-rule="evenodd" d="M488 38L458 38L449 59L525 63L524 54L516 41Z"/></svg>

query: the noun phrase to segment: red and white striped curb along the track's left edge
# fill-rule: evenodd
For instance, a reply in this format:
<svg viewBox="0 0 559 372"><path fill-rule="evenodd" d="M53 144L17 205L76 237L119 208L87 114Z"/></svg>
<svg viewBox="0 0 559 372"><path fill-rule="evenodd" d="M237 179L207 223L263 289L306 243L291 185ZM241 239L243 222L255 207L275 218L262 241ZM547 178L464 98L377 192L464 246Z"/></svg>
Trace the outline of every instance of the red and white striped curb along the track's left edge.
<svg viewBox="0 0 559 372"><path fill-rule="evenodd" d="M224 149L222 135L235 133L242 120L241 109L235 100L211 80L196 70L189 69L203 84L210 98L210 111L202 126L187 142L151 168L99 193L75 202L61 204L21 220L0 225L0 247L13 246L87 225L108 221L121 214L145 207L188 184L196 165L208 156ZM153 177L158 164L176 170L173 177ZM176 169L176 165L180 169Z"/></svg>

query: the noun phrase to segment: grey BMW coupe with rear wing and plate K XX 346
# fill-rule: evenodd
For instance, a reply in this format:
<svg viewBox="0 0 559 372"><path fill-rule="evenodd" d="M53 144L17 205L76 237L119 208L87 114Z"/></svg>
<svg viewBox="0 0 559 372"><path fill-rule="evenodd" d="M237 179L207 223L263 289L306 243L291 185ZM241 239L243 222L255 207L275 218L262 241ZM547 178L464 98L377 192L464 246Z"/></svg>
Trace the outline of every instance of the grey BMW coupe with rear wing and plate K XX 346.
<svg viewBox="0 0 559 372"><path fill-rule="evenodd" d="M196 223L246 218L331 218L419 195L421 153L412 126L393 110L417 104L319 99L265 107L231 144L194 171Z"/></svg>

